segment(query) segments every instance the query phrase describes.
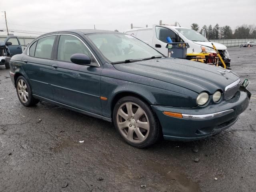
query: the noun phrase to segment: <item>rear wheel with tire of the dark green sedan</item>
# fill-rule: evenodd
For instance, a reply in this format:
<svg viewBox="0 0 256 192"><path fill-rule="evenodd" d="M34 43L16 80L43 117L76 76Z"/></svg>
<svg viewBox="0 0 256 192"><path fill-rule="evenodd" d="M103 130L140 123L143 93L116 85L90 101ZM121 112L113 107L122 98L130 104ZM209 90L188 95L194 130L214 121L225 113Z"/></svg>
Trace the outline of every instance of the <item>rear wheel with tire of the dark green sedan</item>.
<svg viewBox="0 0 256 192"><path fill-rule="evenodd" d="M22 105L29 107L37 104L38 99L32 96L31 87L23 76L19 76L16 80L16 92Z"/></svg>

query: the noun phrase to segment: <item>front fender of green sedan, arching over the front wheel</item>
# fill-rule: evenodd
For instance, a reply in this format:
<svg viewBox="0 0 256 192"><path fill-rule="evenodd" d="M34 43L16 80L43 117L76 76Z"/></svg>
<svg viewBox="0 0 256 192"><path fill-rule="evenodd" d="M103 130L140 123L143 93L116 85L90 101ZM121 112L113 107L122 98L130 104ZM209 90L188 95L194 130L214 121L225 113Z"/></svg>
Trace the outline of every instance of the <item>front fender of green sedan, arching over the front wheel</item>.
<svg viewBox="0 0 256 192"><path fill-rule="evenodd" d="M107 100L102 100L102 115L111 118L112 103L120 93L136 94L144 98L150 105L194 107L196 103L194 98L196 98L197 93L190 90L187 91L187 94L178 93L127 80L101 76L100 93L101 96L107 98Z"/></svg>

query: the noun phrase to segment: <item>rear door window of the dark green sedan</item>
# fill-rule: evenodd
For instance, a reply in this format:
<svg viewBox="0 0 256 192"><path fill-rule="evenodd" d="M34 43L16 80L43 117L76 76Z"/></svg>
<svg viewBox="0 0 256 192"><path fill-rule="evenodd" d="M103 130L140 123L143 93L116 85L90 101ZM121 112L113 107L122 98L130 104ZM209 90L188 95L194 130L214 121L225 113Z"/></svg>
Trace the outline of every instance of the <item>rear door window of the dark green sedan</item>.
<svg viewBox="0 0 256 192"><path fill-rule="evenodd" d="M50 59L56 35L44 37L38 40L35 57Z"/></svg>

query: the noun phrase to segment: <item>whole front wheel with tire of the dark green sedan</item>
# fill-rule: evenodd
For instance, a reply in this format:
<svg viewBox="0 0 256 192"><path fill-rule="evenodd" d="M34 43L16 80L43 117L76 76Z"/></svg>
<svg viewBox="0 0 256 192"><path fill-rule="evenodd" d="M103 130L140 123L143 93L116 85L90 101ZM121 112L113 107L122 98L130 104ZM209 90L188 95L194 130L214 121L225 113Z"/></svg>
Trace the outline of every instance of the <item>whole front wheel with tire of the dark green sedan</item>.
<svg viewBox="0 0 256 192"><path fill-rule="evenodd" d="M137 148L154 144L161 135L160 124L152 108L134 96L126 96L116 102L113 122L121 137Z"/></svg>

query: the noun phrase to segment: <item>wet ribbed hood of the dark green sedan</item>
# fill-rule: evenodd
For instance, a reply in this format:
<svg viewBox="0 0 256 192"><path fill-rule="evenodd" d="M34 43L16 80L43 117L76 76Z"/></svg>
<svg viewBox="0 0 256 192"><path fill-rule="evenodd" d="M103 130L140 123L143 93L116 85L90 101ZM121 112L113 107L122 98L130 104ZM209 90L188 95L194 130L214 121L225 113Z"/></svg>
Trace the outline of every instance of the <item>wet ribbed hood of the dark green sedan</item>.
<svg viewBox="0 0 256 192"><path fill-rule="evenodd" d="M218 71L225 70L221 67L176 58L114 64L114 67L122 72L161 80L198 93L208 91L213 94L218 89L223 91L239 78L233 72L221 74ZM168 87L165 89L168 90Z"/></svg>

